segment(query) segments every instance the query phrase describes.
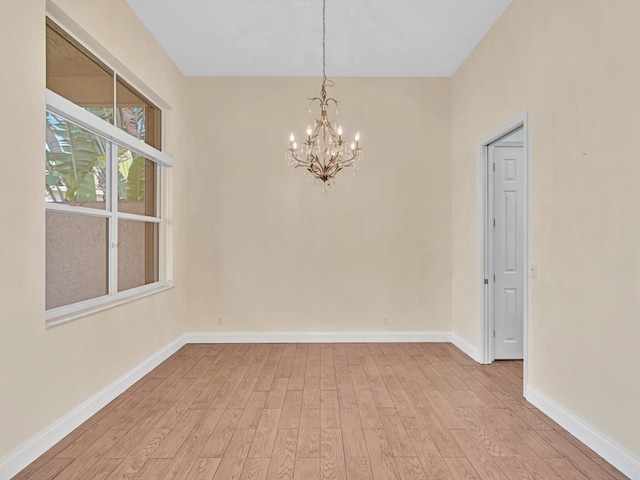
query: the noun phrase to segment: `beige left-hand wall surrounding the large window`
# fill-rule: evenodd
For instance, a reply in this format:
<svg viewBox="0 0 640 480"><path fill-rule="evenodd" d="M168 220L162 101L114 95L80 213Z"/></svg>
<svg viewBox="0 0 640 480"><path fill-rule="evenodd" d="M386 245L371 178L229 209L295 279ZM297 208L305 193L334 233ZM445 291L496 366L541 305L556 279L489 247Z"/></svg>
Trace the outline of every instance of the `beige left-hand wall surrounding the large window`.
<svg viewBox="0 0 640 480"><path fill-rule="evenodd" d="M0 2L0 458L78 407L185 327L184 77L122 0L55 0L175 113L176 288L44 327L45 2ZM10 173L10 174L8 174Z"/></svg>

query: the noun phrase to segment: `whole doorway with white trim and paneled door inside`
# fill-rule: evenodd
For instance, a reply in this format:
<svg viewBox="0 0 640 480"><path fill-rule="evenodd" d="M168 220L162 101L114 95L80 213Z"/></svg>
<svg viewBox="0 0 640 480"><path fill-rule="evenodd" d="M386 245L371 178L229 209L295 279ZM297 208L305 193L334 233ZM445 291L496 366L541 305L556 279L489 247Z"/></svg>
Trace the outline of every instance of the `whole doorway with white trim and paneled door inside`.
<svg viewBox="0 0 640 480"><path fill-rule="evenodd" d="M527 115L480 145L483 342L480 360L523 360L527 386L530 162Z"/></svg>

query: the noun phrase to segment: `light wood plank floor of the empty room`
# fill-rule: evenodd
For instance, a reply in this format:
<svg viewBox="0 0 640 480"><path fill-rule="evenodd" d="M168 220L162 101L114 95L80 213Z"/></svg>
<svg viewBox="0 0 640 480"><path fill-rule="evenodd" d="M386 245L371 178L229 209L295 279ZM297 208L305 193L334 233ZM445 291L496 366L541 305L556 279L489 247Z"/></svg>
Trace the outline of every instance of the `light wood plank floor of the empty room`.
<svg viewBox="0 0 640 480"><path fill-rule="evenodd" d="M450 344L187 345L15 479L620 479Z"/></svg>

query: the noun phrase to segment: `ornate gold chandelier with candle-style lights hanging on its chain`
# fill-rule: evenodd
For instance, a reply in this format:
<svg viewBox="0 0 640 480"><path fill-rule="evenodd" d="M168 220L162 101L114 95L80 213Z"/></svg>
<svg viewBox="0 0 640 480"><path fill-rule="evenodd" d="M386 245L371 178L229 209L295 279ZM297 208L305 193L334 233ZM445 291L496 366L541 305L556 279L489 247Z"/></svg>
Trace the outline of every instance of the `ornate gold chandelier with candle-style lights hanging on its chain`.
<svg viewBox="0 0 640 480"><path fill-rule="evenodd" d="M310 98L309 115L311 106L318 102L320 117L316 118L314 126L307 127L307 138L298 146L293 132L289 136L289 148L287 149L287 163L292 169L302 167L309 180L321 185L323 192L335 182L335 176L347 167L353 167L353 173L362 158L360 148L360 132L357 132L350 146L345 144L342 137L342 127L329 119L329 104L333 103L338 113L338 101L327 97L326 87L334 86L327 79L326 74L326 0L322 0L322 86L320 96Z"/></svg>

